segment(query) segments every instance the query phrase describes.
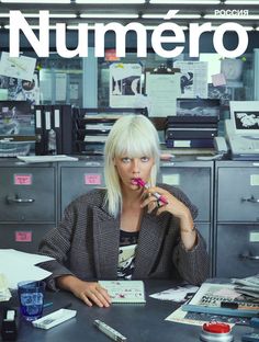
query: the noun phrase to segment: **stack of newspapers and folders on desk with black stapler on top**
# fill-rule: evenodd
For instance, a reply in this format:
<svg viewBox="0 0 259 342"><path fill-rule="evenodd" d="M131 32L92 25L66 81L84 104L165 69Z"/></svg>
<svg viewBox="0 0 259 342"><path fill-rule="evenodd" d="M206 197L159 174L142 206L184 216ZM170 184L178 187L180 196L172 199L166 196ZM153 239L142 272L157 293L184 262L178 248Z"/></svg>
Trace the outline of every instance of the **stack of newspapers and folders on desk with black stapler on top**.
<svg viewBox="0 0 259 342"><path fill-rule="evenodd" d="M182 309L191 312L254 317L259 312L259 299L238 293L234 284L204 283Z"/></svg>

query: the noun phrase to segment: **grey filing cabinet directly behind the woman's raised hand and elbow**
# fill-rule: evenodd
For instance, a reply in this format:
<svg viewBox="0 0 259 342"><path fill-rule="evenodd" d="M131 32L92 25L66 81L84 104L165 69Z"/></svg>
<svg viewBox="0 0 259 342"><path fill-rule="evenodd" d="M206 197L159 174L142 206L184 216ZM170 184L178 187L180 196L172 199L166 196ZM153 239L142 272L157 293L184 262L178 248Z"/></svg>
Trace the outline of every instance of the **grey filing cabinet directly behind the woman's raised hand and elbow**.
<svg viewBox="0 0 259 342"><path fill-rule="evenodd" d="M190 158L177 158L164 161L160 166L158 181L174 185L182 190L190 201L198 207L195 219L198 229L204 237L212 266L212 230L213 230L213 161L196 161Z"/></svg>

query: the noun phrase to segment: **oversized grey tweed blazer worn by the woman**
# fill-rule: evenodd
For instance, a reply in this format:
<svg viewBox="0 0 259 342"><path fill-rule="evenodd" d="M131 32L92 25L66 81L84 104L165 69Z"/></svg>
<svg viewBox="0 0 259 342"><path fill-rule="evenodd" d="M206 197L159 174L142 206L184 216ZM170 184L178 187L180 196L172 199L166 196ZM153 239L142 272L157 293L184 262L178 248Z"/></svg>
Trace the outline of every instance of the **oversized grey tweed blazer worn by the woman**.
<svg viewBox="0 0 259 342"><path fill-rule="evenodd" d="M190 209L198 210L177 187L159 186L171 192ZM40 253L55 258L41 264L55 278L74 274L81 280L115 280L119 261L120 217L112 217L104 204L105 190L93 190L68 205L57 228L40 244ZM209 275L205 242L198 231L198 243L187 251L180 240L179 221L169 213L143 215L133 278L173 278L200 284Z"/></svg>

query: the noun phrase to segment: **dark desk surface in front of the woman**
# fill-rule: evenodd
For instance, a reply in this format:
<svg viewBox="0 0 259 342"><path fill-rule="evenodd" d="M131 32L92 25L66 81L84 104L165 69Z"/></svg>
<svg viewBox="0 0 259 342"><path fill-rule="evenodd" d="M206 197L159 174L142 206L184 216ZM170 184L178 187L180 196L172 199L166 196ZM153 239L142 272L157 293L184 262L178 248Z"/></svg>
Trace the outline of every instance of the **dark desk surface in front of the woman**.
<svg viewBox="0 0 259 342"><path fill-rule="evenodd" d="M111 341L95 327L94 319L103 320L112 328L127 337L128 342L194 342L199 341L200 327L165 321L177 307L171 301L161 301L148 295L172 287L169 281L148 281L146 305L113 305L110 308L89 308L71 294L59 292L46 294L46 301L54 305L45 309L47 315L61 306L72 303L77 310L76 318L49 330L33 328L21 320L19 339L21 342L109 342ZM12 298L14 301L15 298ZM235 342L250 331L248 327L234 327Z"/></svg>

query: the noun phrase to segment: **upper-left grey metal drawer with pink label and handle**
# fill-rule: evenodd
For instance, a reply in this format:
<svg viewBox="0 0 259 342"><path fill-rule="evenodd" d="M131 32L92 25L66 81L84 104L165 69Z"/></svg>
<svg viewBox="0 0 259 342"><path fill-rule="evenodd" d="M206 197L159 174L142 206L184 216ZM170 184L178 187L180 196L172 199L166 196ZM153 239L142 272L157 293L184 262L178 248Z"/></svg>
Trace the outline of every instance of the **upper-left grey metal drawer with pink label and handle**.
<svg viewBox="0 0 259 342"><path fill-rule="evenodd" d="M53 168L0 169L1 221L55 221Z"/></svg>

